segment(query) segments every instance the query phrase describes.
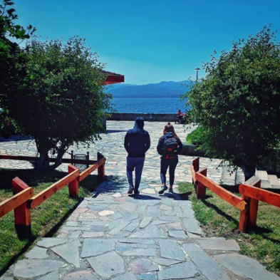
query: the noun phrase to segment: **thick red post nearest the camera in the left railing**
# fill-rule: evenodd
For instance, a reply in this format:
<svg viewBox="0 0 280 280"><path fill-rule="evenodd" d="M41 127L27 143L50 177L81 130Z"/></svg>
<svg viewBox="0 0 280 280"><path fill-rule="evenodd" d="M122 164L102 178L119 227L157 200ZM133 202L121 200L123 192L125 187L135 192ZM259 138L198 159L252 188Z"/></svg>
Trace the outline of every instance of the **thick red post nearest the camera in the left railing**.
<svg viewBox="0 0 280 280"><path fill-rule="evenodd" d="M21 181L19 177L14 178L11 181L11 185L14 195L28 188L28 185ZM16 226L16 232L22 234L31 233L31 209L28 207L27 202L24 202L14 209L14 223Z"/></svg>

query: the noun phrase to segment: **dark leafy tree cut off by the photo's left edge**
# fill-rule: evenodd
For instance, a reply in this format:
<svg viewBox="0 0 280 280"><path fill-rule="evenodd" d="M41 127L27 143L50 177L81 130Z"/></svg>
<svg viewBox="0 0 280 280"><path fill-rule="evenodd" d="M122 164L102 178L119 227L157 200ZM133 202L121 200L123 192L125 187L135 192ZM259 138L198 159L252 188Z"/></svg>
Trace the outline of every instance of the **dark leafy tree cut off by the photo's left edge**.
<svg viewBox="0 0 280 280"><path fill-rule="evenodd" d="M3 109L0 131L4 134L8 133L4 129L11 123L9 110L6 108L7 95L19 90L19 83L24 77L21 66L24 65L26 56L16 41L24 41L35 31L31 25L24 29L16 24L18 16L15 9L11 9L12 5L14 3L10 0L3 0L0 3L0 107Z"/></svg>

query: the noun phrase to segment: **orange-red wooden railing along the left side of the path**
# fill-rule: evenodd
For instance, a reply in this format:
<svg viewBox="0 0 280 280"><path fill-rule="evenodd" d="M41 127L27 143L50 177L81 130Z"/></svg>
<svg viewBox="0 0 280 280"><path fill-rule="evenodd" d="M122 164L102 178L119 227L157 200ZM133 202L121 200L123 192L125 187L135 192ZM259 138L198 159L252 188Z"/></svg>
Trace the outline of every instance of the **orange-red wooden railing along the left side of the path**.
<svg viewBox="0 0 280 280"><path fill-rule="evenodd" d="M68 185L69 196L78 197L78 183L85 179L91 172L98 170L98 177L105 177L105 157L98 152L98 160L93 165L80 173L80 170L68 165L68 175L58 182L33 196L33 188L28 187L25 182L16 177L12 180L13 197L0 203L0 217L14 210L16 230L19 232L31 232L31 209L36 208L48 197L54 195L58 190ZM79 160L78 163L84 163ZM87 161L88 162L88 161ZM86 163L85 163L86 164Z"/></svg>

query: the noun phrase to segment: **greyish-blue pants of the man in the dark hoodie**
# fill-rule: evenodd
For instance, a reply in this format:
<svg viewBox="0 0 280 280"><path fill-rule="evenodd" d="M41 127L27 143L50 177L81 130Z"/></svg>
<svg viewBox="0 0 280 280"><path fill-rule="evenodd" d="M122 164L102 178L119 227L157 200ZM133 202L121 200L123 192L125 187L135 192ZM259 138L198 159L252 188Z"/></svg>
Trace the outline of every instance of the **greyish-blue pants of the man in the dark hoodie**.
<svg viewBox="0 0 280 280"><path fill-rule="evenodd" d="M126 175L128 175L128 184L138 191L142 170L145 162L145 157L127 157L126 158ZM133 184L133 171L135 169L135 185Z"/></svg>

